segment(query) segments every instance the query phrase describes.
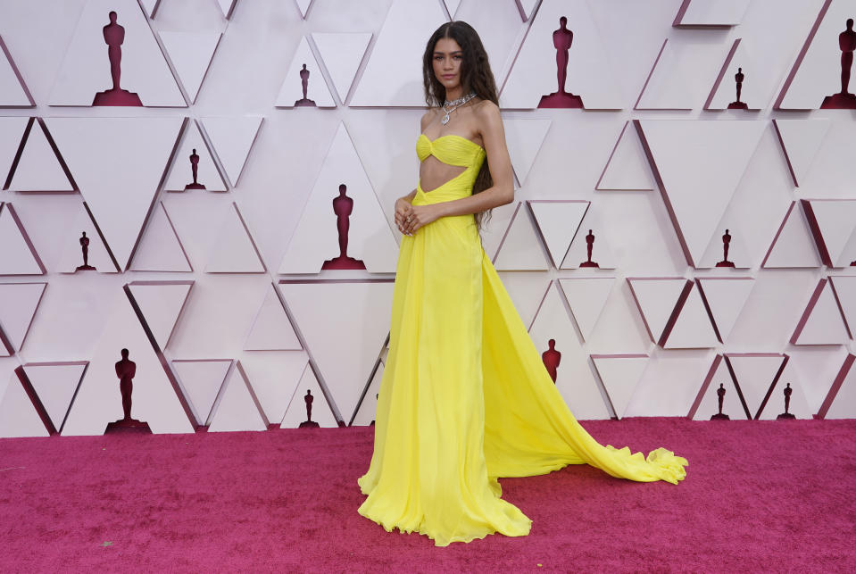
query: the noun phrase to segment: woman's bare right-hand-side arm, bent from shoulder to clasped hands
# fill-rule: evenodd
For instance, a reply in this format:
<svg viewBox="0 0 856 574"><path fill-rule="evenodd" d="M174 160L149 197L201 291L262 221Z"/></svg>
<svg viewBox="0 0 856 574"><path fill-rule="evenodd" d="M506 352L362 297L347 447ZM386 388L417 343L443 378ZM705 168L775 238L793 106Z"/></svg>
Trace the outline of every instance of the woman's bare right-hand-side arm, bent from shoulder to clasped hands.
<svg viewBox="0 0 856 574"><path fill-rule="evenodd" d="M408 215L412 215L411 223L409 227L403 228L404 232L412 233L441 217L484 212L499 205L511 204L514 201L511 158L508 154L508 147L505 146L505 129L499 107L493 102L484 102L479 104L474 112L482 140L485 142L487 164L494 185L469 197L461 197L461 199L439 204L411 206L409 210L406 210Z"/></svg>

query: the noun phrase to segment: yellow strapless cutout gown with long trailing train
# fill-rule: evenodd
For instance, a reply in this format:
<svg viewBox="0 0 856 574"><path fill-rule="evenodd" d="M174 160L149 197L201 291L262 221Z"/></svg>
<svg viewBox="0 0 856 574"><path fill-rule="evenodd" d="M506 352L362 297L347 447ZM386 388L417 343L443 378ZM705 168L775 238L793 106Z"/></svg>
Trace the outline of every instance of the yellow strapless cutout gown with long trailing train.
<svg viewBox="0 0 856 574"><path fill-rule="evenodd" d="M412 204L471 195L485 150L460 136L416 143L466 167ZM393 294L389 355L378 395L374 453L359 479L359 512L386 530L417 531L438 546L532 523L503 501L497 477L591 464L613 477L686 476L686 459L600 445L582 428L544 368L472 215L444 217L403 236Z"/></svg>

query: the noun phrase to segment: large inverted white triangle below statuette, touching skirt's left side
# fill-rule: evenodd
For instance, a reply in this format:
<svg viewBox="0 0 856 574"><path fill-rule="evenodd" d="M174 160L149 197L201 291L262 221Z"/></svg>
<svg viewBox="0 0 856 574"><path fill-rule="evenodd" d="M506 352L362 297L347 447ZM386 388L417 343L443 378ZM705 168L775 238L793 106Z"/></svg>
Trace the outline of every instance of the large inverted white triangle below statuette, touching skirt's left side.
<svg viewBox="0 0 856 574"><path fill-rule="evenodd" d="M340 416L356 408L389 333L394 282L282 282L279 289Z"/></svg>

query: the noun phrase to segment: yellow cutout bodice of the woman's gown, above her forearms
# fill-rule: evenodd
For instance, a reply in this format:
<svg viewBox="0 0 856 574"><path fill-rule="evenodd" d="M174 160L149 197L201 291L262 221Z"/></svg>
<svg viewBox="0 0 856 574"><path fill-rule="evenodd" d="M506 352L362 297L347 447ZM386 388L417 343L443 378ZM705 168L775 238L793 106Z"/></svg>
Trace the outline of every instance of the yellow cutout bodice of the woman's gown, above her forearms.
<svg viewBox="0 0 856 574"><path fill-rule="evenodd" d="M413 198L414 205L436 204L472 195L472 186L476 182L478 171L486 157L484 147L466 137L455 134L446 134L433 141L428 139L425 134L420 134L416 140L416 154L419 156L420 162L425 161L428 155L433 155L437 160L447 165L467 169L430 191L425 191L421 185L417 185L416 196Z"/></svg>

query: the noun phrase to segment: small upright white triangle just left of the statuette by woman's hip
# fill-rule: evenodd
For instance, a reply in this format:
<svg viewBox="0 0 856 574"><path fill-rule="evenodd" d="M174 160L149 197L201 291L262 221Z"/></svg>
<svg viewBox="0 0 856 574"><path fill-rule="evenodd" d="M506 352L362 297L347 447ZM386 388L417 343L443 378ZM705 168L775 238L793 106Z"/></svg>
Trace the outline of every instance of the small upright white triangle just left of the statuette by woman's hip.
<svg viewBox="0 0 856 574"><path fill-rule="evenodd" d="M206 273L263 273L262 255L234 202L220 226L208 256Z"/></svg>

